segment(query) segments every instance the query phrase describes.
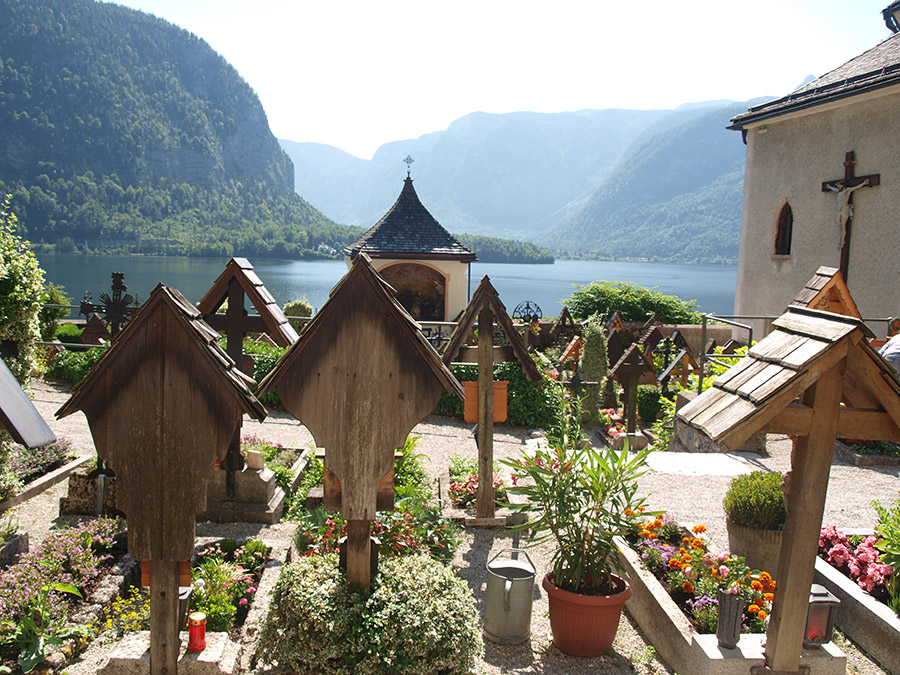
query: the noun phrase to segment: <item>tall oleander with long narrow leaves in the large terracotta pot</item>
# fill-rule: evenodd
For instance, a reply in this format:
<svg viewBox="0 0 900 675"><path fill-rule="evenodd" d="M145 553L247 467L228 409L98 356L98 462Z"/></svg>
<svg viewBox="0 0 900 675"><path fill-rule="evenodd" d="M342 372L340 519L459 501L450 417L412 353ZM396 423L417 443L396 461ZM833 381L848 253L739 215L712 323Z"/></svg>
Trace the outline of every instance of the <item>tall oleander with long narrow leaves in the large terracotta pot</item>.
<svg viewBox="0 0 900 675"><path fill-rule="evenodd" d="M652 450L629 454L583 443L577 402L566 401L548 430L548 448L537 448L522 459L503 460L513 471L511 494L525 497L524 505L508 506L528 512L529 543L553 541L552 578L559 588L574 593L608 595L611 575L621 571L617 535L631 532L644 499L637 496L637 479L645 472Z"/></svg>

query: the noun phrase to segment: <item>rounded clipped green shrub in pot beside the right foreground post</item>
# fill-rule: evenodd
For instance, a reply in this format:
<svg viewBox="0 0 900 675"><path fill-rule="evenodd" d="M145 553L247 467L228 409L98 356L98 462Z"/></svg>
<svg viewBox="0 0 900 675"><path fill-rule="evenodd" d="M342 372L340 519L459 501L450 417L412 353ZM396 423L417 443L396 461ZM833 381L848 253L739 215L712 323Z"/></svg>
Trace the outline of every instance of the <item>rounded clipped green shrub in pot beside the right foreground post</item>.
<svg viewBox="0 0 900 675"><path fill-rule="evenodd" d="M754 471L735 477L722 506L731 522L757 530L783 530L787 519L780 471Z"/></svg>

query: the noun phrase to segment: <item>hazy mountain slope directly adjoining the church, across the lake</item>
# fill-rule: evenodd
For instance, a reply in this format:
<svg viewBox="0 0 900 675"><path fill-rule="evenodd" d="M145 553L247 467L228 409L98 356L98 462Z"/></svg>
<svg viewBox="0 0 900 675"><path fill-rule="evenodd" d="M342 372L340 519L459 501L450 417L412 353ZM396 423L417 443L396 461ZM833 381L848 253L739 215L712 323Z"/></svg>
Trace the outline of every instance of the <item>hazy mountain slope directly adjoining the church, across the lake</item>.
<svg viewBox="0 0 900 675"><path fill-rule="evenodd" d="M725 125L748 105L676 111L535 242L584 257L737 260L745 148Z"/></svg>

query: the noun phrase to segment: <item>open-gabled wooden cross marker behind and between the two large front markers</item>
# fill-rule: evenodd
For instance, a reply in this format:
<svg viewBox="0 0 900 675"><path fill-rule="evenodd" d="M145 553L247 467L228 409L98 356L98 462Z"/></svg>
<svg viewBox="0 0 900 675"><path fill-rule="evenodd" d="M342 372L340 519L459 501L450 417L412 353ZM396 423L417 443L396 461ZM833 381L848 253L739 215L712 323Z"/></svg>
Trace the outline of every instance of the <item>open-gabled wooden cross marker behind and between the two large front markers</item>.
<svg viewBox="0 0 900 675"><path fill-rule="evenodd" d="M257 314L248 314L244 307L245 298L249 298ZM226 300L228 309L224 314L216 314ZM197 309L206 323L225 333L228 356L239 365L243 365L244 337L248 333L266 334L281 347L290 347L299 337L246 258L228 261ZM235 476L243 468L241 427L238 425L225 456L225 496L228 500L239 497Z"/></svg>

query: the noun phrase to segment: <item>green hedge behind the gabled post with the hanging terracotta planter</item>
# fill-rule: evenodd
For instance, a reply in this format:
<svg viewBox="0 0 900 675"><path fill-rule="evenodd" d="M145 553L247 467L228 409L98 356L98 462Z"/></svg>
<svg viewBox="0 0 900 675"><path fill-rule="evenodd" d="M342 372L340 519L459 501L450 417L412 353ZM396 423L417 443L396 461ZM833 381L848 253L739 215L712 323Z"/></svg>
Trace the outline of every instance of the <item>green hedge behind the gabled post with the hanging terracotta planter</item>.
<svg viewBox="0 0 900 675"><path fill-rule="evenodd" d="M450 366L450 372L460 382L478 380L475 364ZM508 380L506 423L520 427L546 428L552 424L562 400L562 386L542 374L538 382L531 382L516 361L494 364L494 379ZM464 401L455 394L441 394L435 412L462 418Z"/></svg>

